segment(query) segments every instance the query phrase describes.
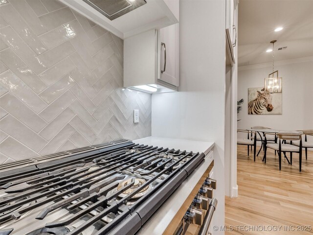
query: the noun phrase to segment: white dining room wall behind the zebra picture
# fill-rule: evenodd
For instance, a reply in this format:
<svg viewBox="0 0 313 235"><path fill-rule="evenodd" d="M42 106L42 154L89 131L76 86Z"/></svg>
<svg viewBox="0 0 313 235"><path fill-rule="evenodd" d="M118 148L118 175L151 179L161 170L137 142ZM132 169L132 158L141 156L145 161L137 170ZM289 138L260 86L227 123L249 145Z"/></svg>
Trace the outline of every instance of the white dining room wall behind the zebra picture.
<svg viewBox="0 0 313 235"><path fill-rule="evenodd" d="M275 70L283 78L283 114L248 115L248 88L264 86L264 78L272 68L269 64L239 67L238 100L244 98L245 103L238 116L238 128L258 125L282 130L313 129L313 58L275 62Z"/></svg>

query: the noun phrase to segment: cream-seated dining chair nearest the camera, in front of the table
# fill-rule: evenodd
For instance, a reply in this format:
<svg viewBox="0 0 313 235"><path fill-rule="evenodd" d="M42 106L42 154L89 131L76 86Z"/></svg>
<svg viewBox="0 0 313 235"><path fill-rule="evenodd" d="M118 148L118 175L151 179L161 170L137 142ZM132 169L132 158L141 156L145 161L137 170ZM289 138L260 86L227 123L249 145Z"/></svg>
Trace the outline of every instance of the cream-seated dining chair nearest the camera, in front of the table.
<svg viewBox="0 0 313 235"><path fill-rule="evenodd" d="M281 170L281 164L282 164L282 152L290 153L290 164L292 165L292 153L298 153L299 154L299 171L301 172L301 163L302 163L302 138L301 134L298 133L278 133L277 137L279 139L279 143L268 143L267 142L267 136L272 135L271 133L265 134L265 150L264 150L264 162L266 163L266 152L267 149L273 149L278 152L279 157L279 170ZM286 141L291 141L290 144L283 143ZM299 146L295 146L292 144L293 141L299 141ZM285 154L285 158L287 158ZM287 158L288 160L288 158ZM288 161L289 162L289 161Z"/></svg>

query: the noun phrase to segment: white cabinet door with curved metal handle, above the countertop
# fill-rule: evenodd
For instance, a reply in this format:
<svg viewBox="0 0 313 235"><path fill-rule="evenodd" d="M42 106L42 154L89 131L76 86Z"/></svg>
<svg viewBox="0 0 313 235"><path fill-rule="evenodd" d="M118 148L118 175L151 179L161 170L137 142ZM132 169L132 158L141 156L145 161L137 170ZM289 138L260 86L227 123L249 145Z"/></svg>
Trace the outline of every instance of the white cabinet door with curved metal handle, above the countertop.
<svg viewBox="0 0 313 235"><path fill-rule="evenodd" d="M179 24L159 31L160 68L158 79L179 86Z"/></svg>

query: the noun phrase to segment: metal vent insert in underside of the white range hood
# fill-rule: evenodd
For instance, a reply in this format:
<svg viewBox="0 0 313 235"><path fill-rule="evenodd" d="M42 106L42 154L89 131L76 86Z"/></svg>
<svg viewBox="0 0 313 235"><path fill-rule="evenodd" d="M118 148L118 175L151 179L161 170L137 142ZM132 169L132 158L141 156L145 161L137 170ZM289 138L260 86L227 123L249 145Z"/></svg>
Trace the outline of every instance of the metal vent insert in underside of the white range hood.
<svg viewBox="0 0 313 235"><path fill-rule="evenodd" d="M145 0L83 0L111 21L146 4Z"/></svg>

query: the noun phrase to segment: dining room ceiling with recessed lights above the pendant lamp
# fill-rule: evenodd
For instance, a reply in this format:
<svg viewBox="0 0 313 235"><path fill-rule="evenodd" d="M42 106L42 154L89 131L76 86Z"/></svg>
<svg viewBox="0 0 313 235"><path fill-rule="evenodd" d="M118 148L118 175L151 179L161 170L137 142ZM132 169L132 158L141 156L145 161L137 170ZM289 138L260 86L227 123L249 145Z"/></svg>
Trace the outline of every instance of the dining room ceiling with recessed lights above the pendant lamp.
<svg viewBox="0 0 313 235"><path fill-rule="evenodd" d="M272 40L275 61L313 56L313 0L240 0L238 65L271 62Z"/></svg>

